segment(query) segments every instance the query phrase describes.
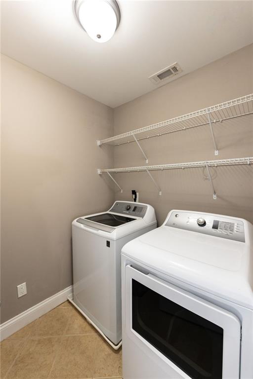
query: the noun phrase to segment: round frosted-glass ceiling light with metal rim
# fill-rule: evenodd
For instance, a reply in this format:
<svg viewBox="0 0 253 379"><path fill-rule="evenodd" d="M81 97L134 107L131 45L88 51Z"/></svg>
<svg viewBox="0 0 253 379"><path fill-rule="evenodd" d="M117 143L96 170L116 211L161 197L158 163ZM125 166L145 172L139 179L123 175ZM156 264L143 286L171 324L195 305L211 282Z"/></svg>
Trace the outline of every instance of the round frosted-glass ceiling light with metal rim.
<svg viewBox="0 0 253 379"><path fill-rule="evenodd" d="M76 0L75 13L88 36L100 43L113 37L121 19L115 0Z"/></svg>

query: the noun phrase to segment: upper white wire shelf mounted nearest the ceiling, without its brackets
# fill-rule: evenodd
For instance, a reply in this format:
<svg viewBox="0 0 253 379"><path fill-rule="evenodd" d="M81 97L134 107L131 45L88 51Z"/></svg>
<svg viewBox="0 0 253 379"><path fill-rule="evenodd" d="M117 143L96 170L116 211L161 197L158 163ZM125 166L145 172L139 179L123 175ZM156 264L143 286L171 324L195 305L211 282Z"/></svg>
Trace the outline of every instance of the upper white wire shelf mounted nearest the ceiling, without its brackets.
<svg viewBox="0 0 253 379"><path fill-rule="evenodd" d="M168 120L148 125L143 128L131 130L127 133L119 134L104 140L97 141L98 146L103 144L123 145L147 138L162 136L168 133L178 132L208 125L215 122L222 122L232 118L253 114L253 94L226 101L209 108L201 109L182 116L170 118Z"/></svg>

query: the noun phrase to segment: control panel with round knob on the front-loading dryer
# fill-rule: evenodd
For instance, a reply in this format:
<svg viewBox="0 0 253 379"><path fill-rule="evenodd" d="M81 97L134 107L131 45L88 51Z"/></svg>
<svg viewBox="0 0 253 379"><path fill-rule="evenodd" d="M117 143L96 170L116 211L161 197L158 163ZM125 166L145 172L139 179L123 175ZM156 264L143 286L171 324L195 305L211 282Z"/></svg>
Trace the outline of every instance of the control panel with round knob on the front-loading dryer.
<svg viewBox="0 0 253 379"><path fill-rule="evenodd" d="M165 225L245 242L243 221L233 218L179 211L172 212Z"/></svg>

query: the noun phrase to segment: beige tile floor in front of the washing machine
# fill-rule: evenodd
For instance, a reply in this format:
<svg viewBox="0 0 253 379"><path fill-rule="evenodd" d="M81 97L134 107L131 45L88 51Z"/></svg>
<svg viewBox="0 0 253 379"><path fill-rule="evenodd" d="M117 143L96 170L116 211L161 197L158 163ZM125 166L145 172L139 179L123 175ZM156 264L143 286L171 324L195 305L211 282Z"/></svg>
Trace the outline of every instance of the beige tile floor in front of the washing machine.
<svg viewBox="0 0 253 379"><path fill-rule="evenodd" d="M115 351L66 302L2 341L1 379L122 378Z"/></svg>

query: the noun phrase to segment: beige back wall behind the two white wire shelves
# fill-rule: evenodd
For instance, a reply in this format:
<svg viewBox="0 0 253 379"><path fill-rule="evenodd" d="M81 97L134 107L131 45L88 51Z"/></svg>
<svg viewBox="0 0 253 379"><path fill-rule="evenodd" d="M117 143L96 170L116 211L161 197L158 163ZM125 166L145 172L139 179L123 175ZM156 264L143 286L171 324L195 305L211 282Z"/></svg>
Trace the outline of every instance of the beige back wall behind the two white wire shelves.
<svg viewBox="0 0 253 379"><path fill-rule="evenodd" d="M211 63L191 74L143 95L114 110L114 133L140 128L253 93L253 45ZM190 162L253 155L253 116L214 125L219 155L214 156L209 127L194 128L141 141L149 164ZM145 165L134 143L115 147L115 166ZM104 165L105 167L105 165ZM145 172L116 174L124 192L116 199L131 198L139 191L142 202L154 206L159 224L171 209L216 212L243 217L253 223L253 167L218 167L214 173L217 200L203 169L153 171L163 194L160 197Z"/></svg>

